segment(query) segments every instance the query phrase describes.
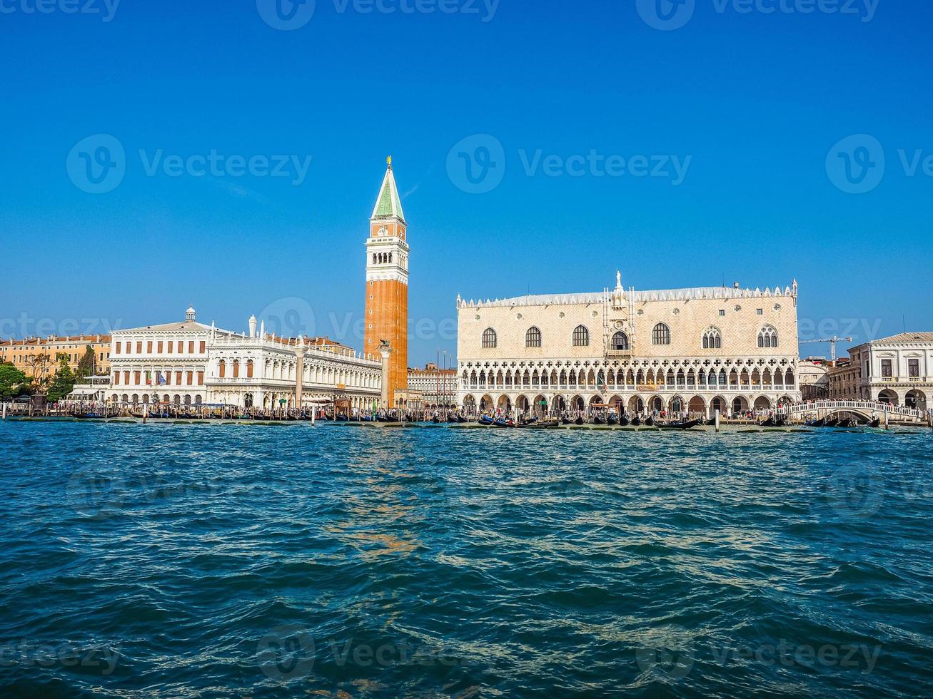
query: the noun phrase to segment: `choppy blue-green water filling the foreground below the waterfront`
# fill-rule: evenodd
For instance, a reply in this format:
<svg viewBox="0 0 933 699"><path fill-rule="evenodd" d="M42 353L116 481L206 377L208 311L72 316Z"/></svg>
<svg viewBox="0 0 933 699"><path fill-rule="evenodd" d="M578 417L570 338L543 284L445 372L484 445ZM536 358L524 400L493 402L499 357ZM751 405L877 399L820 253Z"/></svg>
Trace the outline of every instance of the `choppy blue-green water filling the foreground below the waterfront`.
<svg viewBox="0 0 933 699"><path fill-rule="evenodd" d="M3 423L0 694L928 696L931 448Z"/></svg>

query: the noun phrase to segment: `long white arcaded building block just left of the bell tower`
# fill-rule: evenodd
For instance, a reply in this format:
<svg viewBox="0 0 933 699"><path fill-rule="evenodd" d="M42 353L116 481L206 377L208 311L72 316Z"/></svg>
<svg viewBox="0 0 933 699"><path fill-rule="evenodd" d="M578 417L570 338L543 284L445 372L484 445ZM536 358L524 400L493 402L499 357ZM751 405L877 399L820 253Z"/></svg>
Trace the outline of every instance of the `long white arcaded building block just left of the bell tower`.
<svg viewBox="0 0 933 699"><path fill-rule="evenodd" d="M113 334L107 400L121 404L297 407L306 402L370 408L382 391L382 363L325 337L276 337L249 319L249 333L185 320Z"/></svg>

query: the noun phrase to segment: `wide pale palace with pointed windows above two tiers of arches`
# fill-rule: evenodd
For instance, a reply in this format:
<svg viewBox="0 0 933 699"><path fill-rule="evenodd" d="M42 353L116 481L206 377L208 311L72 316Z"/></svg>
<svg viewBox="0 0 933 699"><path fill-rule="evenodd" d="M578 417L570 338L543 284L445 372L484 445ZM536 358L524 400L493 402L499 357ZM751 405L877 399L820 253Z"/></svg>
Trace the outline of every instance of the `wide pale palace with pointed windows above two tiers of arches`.
<svg viewBox="0 0 933 699"><path fill-rule="evenodd" d="M707 416L799 402L797 292L636 291L617 274L597 293L458 296L458 400L468 412Z"/></svg>

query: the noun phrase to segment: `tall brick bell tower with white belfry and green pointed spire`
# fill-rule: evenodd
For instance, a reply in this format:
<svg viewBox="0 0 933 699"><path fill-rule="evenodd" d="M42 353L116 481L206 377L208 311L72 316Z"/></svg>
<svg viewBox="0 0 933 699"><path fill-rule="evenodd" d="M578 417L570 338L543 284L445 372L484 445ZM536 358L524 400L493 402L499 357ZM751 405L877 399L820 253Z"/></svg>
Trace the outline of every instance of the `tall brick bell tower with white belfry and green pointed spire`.
<svg viewBox="0 0 933 699"><path fill-rule="evenodd" d="M388 396L395 407L397 389L408 387L408 258L405 214L398 199L392 157L369 219L366 241L366 330L363 350L378 355L382 340L392 347Z"/></svg>

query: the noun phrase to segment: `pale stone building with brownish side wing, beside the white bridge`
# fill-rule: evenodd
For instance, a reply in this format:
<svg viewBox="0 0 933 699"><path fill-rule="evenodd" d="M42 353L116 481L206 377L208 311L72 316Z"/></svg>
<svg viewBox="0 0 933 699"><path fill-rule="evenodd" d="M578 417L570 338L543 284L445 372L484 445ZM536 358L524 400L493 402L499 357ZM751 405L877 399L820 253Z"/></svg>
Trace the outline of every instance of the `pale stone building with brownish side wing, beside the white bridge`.
<svg viewBox="0 0 933 699"><path fill-rule="evenodd" d="M933 333L900 333L849 349L830 372L831 398L864 398L927 409L933 394Z"/></svg>

